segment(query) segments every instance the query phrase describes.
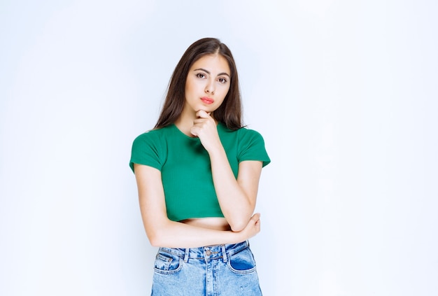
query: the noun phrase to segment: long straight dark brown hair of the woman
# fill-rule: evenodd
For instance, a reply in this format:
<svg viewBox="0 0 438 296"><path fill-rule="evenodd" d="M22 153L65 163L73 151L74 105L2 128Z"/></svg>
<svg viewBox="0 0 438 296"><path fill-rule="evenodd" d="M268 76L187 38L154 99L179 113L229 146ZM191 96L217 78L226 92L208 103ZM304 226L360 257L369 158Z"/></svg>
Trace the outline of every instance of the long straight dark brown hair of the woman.
<svg viewBox="0 0 438 296"><path fill-rule="evenodd" d="M204 55L212 54L218 54L227 59L231 71L228 93L219 108L214 111L214 118L225 124L229 129L243 127L239 77L237 76L234 57L227 45L221 43L217 38L202 38L185 50L183 57L176 65L170 78L166 99L155 129L171 125L178 119L185 104L185 81L190 67Z"/></svg>

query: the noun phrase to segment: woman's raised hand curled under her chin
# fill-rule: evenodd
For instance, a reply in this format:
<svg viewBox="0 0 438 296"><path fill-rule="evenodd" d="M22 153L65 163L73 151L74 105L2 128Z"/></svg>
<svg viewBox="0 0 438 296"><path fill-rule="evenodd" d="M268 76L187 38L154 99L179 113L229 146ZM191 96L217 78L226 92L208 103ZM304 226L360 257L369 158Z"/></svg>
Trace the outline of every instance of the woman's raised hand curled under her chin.
<svg viewBox="0 0 438 296"><path fill-rule="evenodd" d="M197 119L193 121L190 132L201 140L202 146L210 153L222 145L216 121L211 117L210 113L204 110L197 111L196 115Z"/></svg>

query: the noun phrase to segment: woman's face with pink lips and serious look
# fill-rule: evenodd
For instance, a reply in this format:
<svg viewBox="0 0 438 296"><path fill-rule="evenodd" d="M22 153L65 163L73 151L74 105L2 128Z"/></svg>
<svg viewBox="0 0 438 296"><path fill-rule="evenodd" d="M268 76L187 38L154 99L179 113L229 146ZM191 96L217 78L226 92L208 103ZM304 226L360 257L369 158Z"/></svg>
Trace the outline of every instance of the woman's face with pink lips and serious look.
<svg viewBox="0 0 438 296"><path fill-rule="evenodd" d="M222 55L204 55L190 67L185 82L185 111L215 111L225 99L231 72Z"/></svg>

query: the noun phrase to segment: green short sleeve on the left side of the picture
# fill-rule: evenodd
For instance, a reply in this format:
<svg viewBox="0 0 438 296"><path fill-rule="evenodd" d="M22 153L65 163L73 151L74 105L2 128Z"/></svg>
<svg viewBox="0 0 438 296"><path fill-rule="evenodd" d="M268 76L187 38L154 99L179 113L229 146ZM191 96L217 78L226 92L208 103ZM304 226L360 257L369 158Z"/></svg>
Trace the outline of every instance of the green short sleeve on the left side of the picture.
<svg viewBox="0 0 438 296"><path fill-rule="evenodd" d="M132 143L131 160L129 167L134 171L134 164L144 164L155 169L162 169L162 155L160 141L153 132L146 132L137 136Z"/></svg>

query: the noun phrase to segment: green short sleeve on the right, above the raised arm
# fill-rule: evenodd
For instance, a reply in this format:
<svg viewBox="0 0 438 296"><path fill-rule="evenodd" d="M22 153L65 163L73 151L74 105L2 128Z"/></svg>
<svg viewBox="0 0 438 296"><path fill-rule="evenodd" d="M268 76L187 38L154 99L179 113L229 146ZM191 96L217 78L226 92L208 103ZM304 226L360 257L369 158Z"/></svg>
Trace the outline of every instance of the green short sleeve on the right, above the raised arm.
<svg viewBox="0 0 438 296"><path fill-rule="evenodd" d="M259 160L263 162L263 167L267 166L269 159L266 148L264 148L264 139L262 135L253 129L241 129L242 135L239 139L238 161Z"/></svg>

